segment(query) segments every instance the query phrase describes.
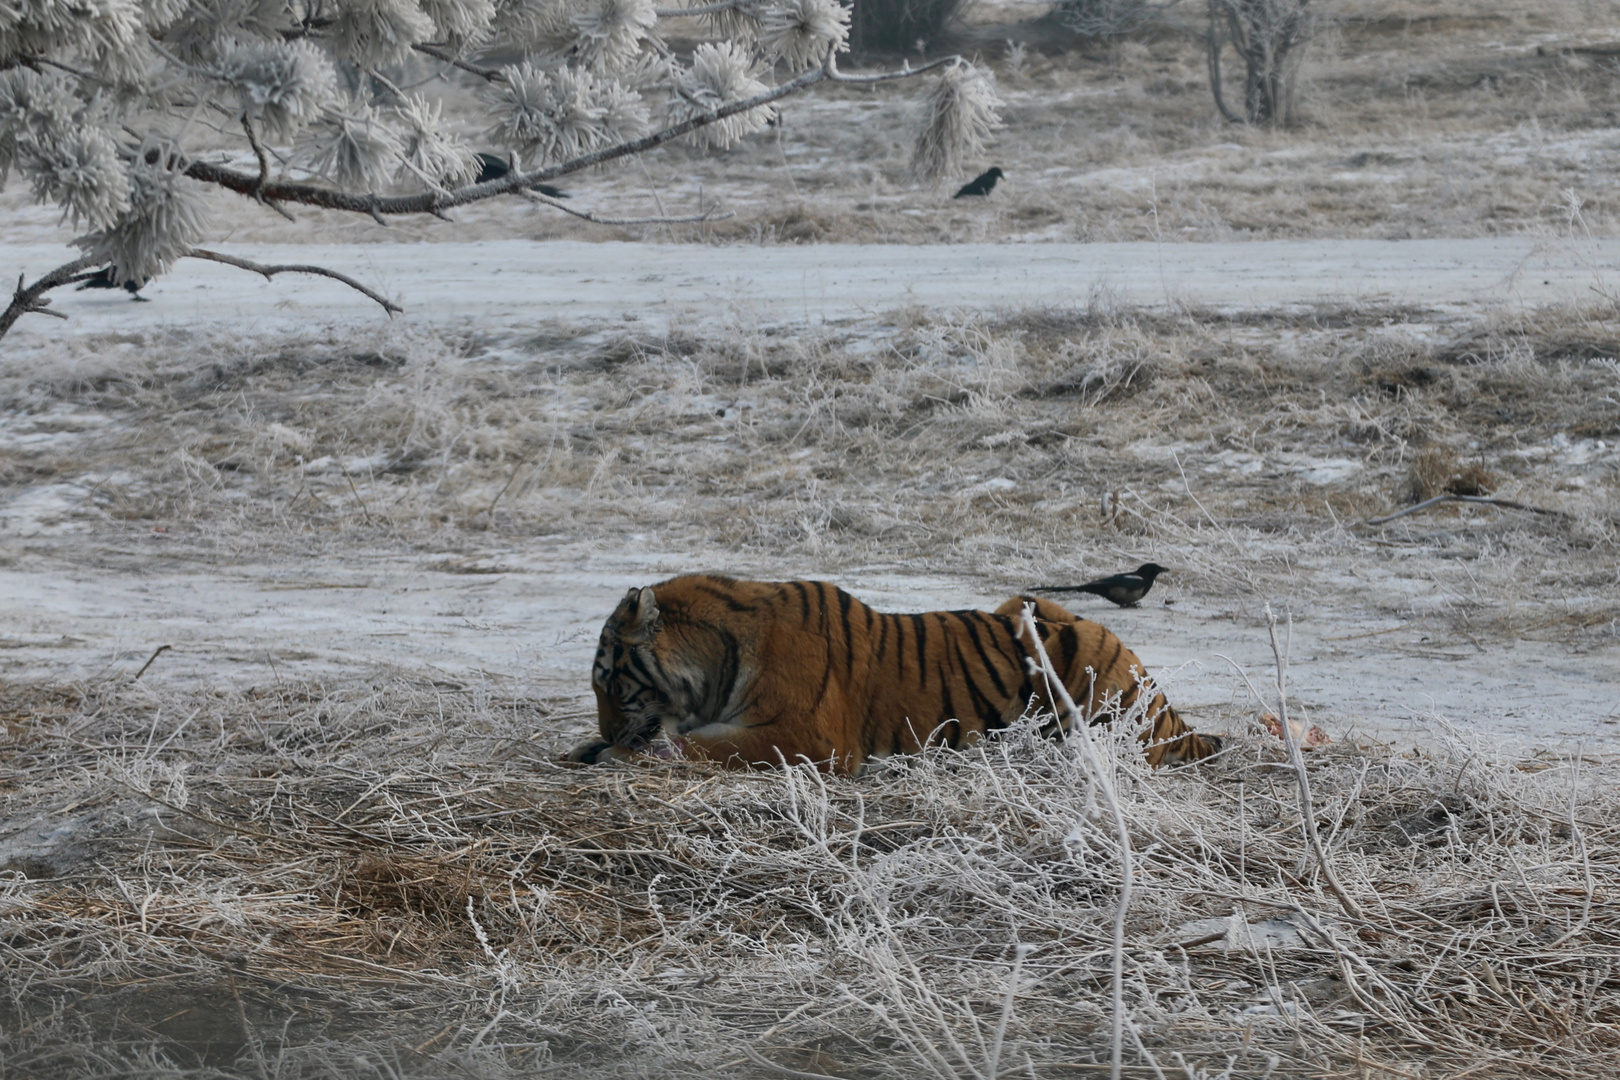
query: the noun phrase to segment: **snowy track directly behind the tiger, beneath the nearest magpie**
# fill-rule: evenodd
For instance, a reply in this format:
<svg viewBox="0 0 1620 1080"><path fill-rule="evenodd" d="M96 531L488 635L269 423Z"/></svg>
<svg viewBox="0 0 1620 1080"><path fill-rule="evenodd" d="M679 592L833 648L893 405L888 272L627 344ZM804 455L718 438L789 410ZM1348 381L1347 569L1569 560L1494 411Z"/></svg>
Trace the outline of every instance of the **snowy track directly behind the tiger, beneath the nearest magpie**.
<svg viewBox="0 0 1620 1080"><path fill-rule="evenodd" d="M173 559L162 539L141 547L146 557L100 554L100 565L86 565L13 546L11 565L0 570L13 612L0 636L0 672L28 682L128 677L168 644L146 678L245 688L395 672L447 687L488 680L502 693L572 698L588 711L596 633L627 588L695 568L805 573L792 559L635 551L633 538L617 551L538 539L450 557L361 552L225 565ZM982 576L901 565L833 576L889 610L993 607L1009 593ZM1160 594L1183 599L1163 606L1153 602ZM1209 714L1212 729L1223 729L1213 719L1223 706L1246 698L1226 657L1257 680L1272 669L1254 612L1236 617L1228 606L1186 599L1168 580L1137 610L1092 597L1072 607L1124 636L1174 701L1189 716ZM1294 623L1290 688L1340 738L1427 742L1427 725L1447 717L1471 732L1605 751L1620 748L1614 659L1612 648L1571 654L1545 641L1437 641L1406 620L1312 607Z"/></svg>

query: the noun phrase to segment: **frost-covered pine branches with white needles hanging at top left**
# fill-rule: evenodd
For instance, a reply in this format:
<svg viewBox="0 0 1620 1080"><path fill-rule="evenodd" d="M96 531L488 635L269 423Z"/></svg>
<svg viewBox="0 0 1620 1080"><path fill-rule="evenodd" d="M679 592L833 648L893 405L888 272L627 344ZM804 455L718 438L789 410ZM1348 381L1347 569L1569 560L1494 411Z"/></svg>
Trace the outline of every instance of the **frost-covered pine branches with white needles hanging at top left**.
<svg viewBox="0 0 1620 1080"><path fill-rule="evenodd" d="M688 57L661 37L676 18L703 19ZM818 83L932 68L915 172L940 180L980 154L1000 105L987 73L948 57L849 76L847 39L839 0L0 0L0 188L15 170L83 230L81 257L18 280L0 337L24 314L62 317L52 288L102 275L138 288L181 257L326 274L394 309L334 270L198 248L219 193L377 222L514 193L564 210L533 185L684 136L726 147ZM478 136L509 154L504 176L478 183L476 154L442 120L454 79L480 87Z"/></svg>

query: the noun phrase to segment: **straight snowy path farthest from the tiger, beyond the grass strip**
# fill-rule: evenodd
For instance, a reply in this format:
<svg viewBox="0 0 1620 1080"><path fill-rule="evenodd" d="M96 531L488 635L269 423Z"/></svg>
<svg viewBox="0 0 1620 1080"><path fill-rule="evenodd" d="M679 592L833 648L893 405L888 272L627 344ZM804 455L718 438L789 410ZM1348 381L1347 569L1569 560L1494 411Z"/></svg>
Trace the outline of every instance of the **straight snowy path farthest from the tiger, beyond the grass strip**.
<svg viewBox="0 0 1620 1080"><path fill-rule="evenodd" d="M1301 240L1116 244L727 246L536 243L219 244L262 262L347 272L407 308L405 319L486 325L549 317L724 319L747 311L816 322L893 308L1121 304L1277 308L1314 303L1542 304L1620 285L1620 240ZM55 244L0 248L0 277L29 279L71 257ZM13 277L5 277L13 275ZM376 304L330 280L274 282L199 261L154 282L154 303L60 291L71 322L24 319L58 335L228 322L248 332L377 319Z"/></svg>

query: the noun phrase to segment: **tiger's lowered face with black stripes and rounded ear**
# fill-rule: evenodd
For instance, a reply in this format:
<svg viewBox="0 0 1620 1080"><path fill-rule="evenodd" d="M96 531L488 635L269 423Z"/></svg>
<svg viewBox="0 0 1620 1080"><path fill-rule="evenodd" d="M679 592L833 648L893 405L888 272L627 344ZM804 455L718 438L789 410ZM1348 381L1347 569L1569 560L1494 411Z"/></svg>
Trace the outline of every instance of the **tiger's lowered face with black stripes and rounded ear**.
<svg viewBox="0 0 1620 1080"><path fill-rule="evenodd" d="M638 751L658 735L672 703L664 687L658 649L663 628L653 589L630 589L596 644L591 690L596 691L596 727L609 746Z"/></svg>

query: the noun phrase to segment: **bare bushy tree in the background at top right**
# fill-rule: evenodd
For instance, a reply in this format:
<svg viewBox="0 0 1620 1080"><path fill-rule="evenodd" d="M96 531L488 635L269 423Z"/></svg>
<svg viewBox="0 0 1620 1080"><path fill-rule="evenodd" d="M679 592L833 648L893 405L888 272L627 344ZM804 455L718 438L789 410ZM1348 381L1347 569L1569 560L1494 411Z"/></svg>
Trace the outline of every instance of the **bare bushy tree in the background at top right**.
<svg viewBox="0 0 1620 1080"><path fill-rule="evenodd" d="M1234 123L1281 126L1294 107L1299 47L1311 40L1311 0L1210 0L1210 89ZM1220 62L1226 45L1243 60L1243 112L1226 105Z"/></svg>

